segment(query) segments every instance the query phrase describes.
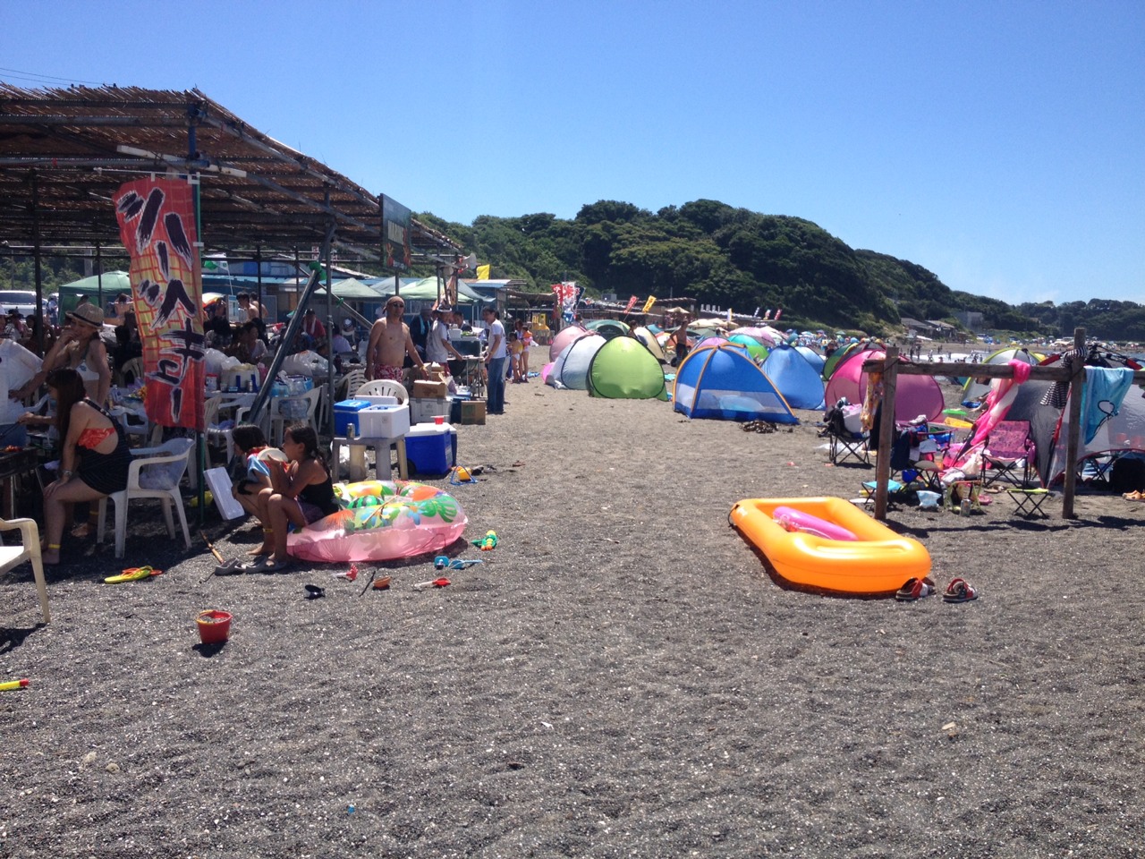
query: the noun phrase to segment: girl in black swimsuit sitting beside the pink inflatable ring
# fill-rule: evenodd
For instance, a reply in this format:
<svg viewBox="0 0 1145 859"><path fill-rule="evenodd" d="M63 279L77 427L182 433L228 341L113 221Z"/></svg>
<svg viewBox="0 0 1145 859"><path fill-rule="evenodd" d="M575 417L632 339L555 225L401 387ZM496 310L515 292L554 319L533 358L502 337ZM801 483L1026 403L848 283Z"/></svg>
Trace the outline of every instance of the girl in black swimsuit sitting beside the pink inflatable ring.
<svg viewBox="0 0 1145 859"><path fill-rule="evenodd" d="M303 528L338 510L334 483L330 470L318 452L318 434L307 424L295 424L283 434L285 463L268 463L270 487L259 492L259 515L268 527L263 529L262 546L258 554L269 555L267 572L286 569L286 525Z"/></svg>

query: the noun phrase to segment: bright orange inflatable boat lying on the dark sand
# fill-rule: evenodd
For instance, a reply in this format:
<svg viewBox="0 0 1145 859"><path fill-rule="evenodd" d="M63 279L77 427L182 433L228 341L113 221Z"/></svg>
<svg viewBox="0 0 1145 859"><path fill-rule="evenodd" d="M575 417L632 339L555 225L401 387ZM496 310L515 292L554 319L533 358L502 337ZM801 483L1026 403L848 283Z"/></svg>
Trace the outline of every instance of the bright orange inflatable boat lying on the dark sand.
<svg viewBox="0 0 1145 859"><path fill-rule="evenodd" d="M773 519L776 507L788 527L822 520L856 539L828 539L810 530L788 530ZM902 537L843 498L749 498L732 507L732 525L767 555L775 572L797 584L847 593L897 591L931 568L930 553L917 539ZM812 528L812 530L814 530ZM826 529L820 529L826 530Z"/></svg>

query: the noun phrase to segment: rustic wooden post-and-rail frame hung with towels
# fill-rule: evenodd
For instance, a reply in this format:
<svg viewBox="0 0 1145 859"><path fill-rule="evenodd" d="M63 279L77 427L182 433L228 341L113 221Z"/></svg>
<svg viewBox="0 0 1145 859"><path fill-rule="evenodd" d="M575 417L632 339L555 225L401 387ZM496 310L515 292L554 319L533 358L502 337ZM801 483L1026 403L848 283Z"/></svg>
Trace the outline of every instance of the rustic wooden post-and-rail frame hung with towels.
<svg viewBox="0 0 1145 859"><path fill-rule="evenodd" d="M1085 329L1074 330L1074 348L1085 348ZM949 364L949 363L903 363L897 346L886 349L883 361L867 361L863 372L883 373L883 419L878 427L878 458L875 463L875 519L886 519L887 484L891 479L891 446L894 438L894 395L898 377L901 376L949 376L951 369L966 370L976 378L1010 379L1013 369L1009 364ZM1064 367L1032 367L1029 378L1037 381L1065 381L1069 384L1069 433L1066 436L1066 456L1071 466L1065 470L1061 518L1074 519L1074 497L1077 487L1077 450L1081 446L1081 396L1085 381L1085 368L1080 363L1073 373ZM1145 383L1145 371L1134 372L1134 383Z"/></svg>

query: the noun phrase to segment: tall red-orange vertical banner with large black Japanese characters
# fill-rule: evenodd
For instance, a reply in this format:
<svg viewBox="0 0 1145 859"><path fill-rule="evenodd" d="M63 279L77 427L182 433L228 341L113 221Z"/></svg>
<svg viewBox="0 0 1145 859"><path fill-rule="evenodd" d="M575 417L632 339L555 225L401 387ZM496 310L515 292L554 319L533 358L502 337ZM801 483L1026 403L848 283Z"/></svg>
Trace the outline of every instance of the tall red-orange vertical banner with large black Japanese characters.
<svg viewBox="0 0 1145 859"><path fill-rule="evenodd" d="M147 416L160 426L202 432L206 353L191 186L141 179L120 186L114 204L132 258Z"/></svg>

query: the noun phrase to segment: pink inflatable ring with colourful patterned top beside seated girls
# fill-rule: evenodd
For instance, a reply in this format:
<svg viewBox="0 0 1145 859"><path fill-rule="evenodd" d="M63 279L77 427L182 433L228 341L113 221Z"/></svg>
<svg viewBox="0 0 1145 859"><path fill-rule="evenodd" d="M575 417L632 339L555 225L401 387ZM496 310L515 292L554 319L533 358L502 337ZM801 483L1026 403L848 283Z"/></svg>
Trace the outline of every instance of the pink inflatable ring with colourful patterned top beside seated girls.
<svg viewBox="0 0 1145 859"><path fill-rule="evenodd" d="M286 537L308 561L385 561L439 553L465 533L468 520L453 496L400 480L334 483L340 510Z"/></svg>

